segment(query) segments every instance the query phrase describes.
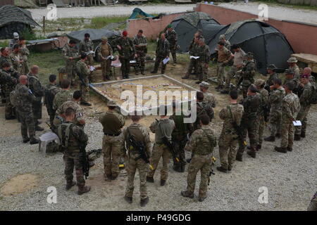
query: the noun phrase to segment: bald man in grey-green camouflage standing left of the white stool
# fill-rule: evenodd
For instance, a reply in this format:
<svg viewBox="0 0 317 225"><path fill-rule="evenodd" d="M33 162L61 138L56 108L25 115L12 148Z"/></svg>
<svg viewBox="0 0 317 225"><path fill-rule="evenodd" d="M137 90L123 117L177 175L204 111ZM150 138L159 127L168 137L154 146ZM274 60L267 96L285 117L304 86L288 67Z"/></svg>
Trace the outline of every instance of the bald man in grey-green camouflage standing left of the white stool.
<svg viewBox="0 0 317 225"><path fill-rule="evenodd" d="M15 95L18 100L17 109L21 122L21 134L23 143L30 141L30 144L33 145L39 143L39 140L35 139L35 122L32 112L32 102L35 101L35 96L27 87L27 76L21 75L19 80L20 84L15 87Z"/></svg>

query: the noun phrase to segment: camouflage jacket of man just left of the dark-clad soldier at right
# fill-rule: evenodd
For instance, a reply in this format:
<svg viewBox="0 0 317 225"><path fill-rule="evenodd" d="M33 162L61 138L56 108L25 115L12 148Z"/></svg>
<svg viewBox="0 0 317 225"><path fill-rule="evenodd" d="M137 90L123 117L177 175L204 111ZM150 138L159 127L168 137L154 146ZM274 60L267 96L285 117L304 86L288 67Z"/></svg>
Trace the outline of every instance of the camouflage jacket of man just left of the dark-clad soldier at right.
<svg viewBox="0 0 317 225"><path fill-rule="evenodd" d="M230 108L232 116L230 114ZM244 114L243 105L240 104L230 104L226 108L220 110L219 117L223 120L223 130L221 135L237 134L235 128L232 126L232 122L236 122L240 126L242 115Z"/></svg>

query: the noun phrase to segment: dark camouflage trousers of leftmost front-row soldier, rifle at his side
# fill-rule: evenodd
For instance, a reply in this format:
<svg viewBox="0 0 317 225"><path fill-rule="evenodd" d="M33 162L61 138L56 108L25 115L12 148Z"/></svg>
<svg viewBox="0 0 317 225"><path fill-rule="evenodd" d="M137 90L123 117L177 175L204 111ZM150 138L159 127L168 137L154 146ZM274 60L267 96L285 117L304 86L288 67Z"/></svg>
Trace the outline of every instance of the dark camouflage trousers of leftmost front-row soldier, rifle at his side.
<svg viewBox="0 0 317 225"><path fill-rule="evenodd" d="M80 162L79 155L63 155L65 162L65 179L67 183L73 181L73 172L75 167L77 186L85 186L84 172L82 170L82 162Z"/></svg>

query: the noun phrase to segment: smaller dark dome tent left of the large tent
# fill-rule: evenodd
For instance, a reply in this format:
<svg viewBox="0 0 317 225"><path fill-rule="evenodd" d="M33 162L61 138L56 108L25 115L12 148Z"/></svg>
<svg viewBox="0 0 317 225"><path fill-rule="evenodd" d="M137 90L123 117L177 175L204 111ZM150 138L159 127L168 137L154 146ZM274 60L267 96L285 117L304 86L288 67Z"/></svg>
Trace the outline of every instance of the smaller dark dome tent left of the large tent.
<svg viewBox="0 0 317 225"><path fill-rule="evenodd" d="M206 13L193 12L185 13L175 18L171 25L178 34L178 45L180 51L189 51L190 43L194 37L194 33L201 27L201 23L219 25L219 23ZM216 33L215 33L216 34Z"/></svg>

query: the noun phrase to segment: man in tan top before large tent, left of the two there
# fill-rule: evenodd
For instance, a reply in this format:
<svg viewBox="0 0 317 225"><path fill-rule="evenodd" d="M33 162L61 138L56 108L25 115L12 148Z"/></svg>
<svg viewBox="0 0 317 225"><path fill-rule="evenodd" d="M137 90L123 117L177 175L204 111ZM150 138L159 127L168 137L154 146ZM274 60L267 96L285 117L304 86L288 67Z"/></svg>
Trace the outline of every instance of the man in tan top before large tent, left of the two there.
<svg viewBox="0 0 317 225"><path fill-rule="evenodd" d="M225 43L223 41L219 41L218 42L218 60L217 60L218 86L216 87L218 91L220 91L220 89L223 89L223 77L225 73L225 66L228 64L231 55L232 55L231 51L225 48Z"/></svg>

